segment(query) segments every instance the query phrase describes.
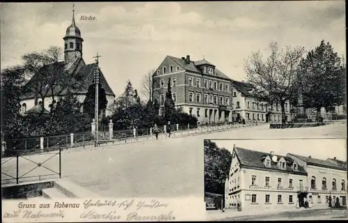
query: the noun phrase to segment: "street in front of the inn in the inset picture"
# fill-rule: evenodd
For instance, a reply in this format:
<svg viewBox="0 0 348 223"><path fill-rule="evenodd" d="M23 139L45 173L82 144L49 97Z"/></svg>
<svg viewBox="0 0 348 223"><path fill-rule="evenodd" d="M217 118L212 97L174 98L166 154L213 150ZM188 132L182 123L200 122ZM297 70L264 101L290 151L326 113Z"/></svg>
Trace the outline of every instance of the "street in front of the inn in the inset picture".
<svg viewBox="0 0 348 223"><path fill-rule="evenodd" d="M269 213L265 215L249 215L228 217L221 221L265 221L265 220L347 220L347 209L314 209L301 211L287 211L283 213Z"/></svg>

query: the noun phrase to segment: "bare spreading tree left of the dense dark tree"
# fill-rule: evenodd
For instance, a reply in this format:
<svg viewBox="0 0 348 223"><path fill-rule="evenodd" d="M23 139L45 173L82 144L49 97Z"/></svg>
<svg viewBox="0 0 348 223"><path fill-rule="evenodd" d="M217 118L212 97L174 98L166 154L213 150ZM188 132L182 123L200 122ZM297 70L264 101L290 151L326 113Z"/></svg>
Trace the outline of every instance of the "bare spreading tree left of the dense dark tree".
<svg viewBox="0 0 348 223"><path fill-rule="evenodd" d="M299 86L298 70L303 47L278 49L277 43L269 45L271 55L264 61L258 52L252 52L245 63L247 82L252 84L254 94L271 105L280 102L282 124L285 123L285 102L296 95Z"/></svg>

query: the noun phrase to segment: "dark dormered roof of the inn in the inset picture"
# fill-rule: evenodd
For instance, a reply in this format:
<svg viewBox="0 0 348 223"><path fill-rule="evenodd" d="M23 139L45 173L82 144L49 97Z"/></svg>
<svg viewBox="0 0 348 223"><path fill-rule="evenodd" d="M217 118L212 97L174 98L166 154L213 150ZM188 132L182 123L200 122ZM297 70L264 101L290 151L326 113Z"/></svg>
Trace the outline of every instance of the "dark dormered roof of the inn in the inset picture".
<svg viewBox="0 0 348 223"><path fill-rule="evenodd" d="M290 157L276 155L278 157L278 160L280 160L281 157L284 158L286 162L286 170L284 170L284 169L279 169L277 166L277 162L274 162L272 159L271 159L271 167L266 167L264 165L264 158L267 156L271 158L273 156L271 153L252 151L250 149L239 148L236 146L235 146L235 152L242 167L269 169L269 170L280 171L280 172L285 171L290 174L307 175L307 172L305 171L305 169L303 169L303 167L301 167L299 164L298 164L297 170L294 170L292 168L292 164L294 163L294 160L292 160Z"/></svg>

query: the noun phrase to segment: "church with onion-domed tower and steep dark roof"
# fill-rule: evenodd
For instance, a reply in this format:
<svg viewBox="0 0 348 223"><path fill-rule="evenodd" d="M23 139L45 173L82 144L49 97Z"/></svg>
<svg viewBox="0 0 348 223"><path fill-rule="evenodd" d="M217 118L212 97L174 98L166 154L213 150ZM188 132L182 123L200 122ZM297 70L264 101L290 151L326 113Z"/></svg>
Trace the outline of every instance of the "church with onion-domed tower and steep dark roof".
<svg viewBox="0 0 348 223"><path fill-rule="evenodd" d="M26 91L21 96L21 112L22 114L35 114L38 112L49 113L50 106L52 105L52 94L54 94L55 98L64 97L69 91L69 86L58 86L58 87L50 87L48 85L43 88L45 94L38 93L34 89L39 89L42 84L40 79L45 77L45 72L49 70L49 66L54 68L61 68L64 75L71 75L70 77L80 77L80 83L77 83L77 89L74 89L73 94L77 96L79 102L84 102L86 98L86 93L88 91L88 87L91 84L94 84L95 72L99 69L99 81L102 86L102 89L105 90L107 105L113 104L115 100L115 94L110 88L108 82L106 81L102 70L97 66L97 63L86 64L83 59L83 42L84 39L81 37L81 31L75 24L74 20L74 10L72 10L72 24L66 29L66 34L63 37L64 40L64 61L58 61L55 64L49 64L47 66L43 66L40 69L39 74L33 75L33 77L29 80L26 86L33 89L31 91ZM26 87L24 86L24 88ZM42 97L45 95L45 97ZM43 99L43 100L42 100ZM54 99L57 101L57 99ZM103 110L100 112L100 116L107 116L109 112Z"/></svg>

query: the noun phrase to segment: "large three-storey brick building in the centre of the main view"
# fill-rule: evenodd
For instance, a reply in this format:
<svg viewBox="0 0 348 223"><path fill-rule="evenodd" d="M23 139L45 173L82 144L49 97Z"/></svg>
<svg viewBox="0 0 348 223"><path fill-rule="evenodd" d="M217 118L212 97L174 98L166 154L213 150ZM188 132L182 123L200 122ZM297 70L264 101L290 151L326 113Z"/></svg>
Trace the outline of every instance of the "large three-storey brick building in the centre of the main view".
<svg viewBox="0 0 348 223"><path fill-rule="evenodd" d="M200 123L232 121L232 79L205 59L166 56L152 75L154 93L163 111L170 78L176 107L198 118Z"/></svg>

